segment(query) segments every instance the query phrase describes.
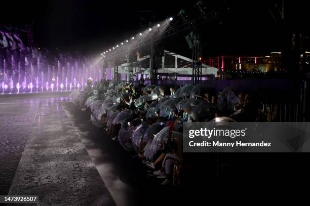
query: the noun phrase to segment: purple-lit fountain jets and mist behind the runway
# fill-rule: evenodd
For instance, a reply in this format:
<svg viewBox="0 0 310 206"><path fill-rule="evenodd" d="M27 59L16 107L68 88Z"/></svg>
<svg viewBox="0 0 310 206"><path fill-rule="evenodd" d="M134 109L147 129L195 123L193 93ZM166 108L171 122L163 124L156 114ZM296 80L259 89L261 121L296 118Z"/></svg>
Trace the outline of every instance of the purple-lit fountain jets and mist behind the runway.
<svg viewBox="0 0 310 206"><path fill-rule="evenodd" d="M101 69L97 60L81 55L52 55L41 49L0 50L0 93L80 90L85 79L100 80Z"/></svg>

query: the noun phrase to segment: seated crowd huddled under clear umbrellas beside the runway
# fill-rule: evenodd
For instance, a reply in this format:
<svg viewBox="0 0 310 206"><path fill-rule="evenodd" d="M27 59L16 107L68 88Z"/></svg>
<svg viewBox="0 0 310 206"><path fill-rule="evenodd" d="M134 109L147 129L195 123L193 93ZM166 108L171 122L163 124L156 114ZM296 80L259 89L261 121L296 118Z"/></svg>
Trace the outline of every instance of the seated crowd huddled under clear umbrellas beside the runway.
<svg viewBox="0 0 310 206"><path fill-rule="evenodd" d="M115 86L104 81L84 91L73 91L71 100L81 109L89 107L94 125L105 129L124 149L135 151L150 169L149 176L164 179L162 185L181 184L186 159L182 152L183 123L255 121L259 109L250 93L237 96L227 89L215 92L206 85Z"/></svg>

